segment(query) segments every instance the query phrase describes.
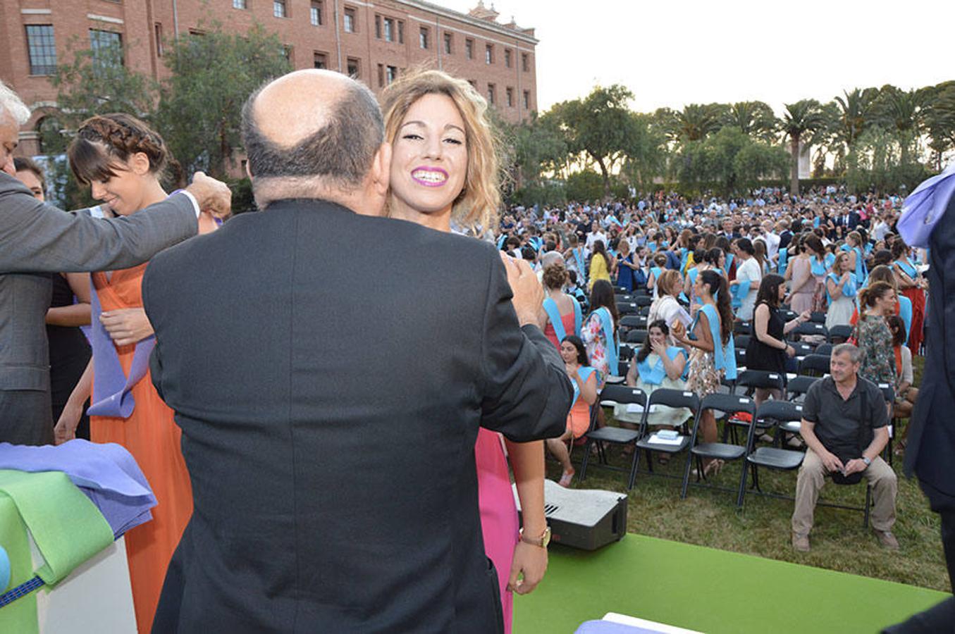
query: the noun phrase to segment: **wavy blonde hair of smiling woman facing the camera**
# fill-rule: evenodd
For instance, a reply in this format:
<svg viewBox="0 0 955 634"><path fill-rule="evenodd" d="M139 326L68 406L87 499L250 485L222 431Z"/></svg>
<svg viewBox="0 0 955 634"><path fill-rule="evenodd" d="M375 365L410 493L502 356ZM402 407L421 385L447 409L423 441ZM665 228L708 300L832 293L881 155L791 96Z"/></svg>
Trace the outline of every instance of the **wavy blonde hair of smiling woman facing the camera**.
<svg viewBox="0 0 955 634"><path fill-rule="evenodd" d="M487 101L464 79L434 70L404 74L380 97L385 115L385 139L394 143L398 128L415 101L424 95L445 95L455 102L464 120L468 166L464 188L455 200L452 219L464 227L487 231L498 221L499 162L498 138L485 113Z"/></svg>

